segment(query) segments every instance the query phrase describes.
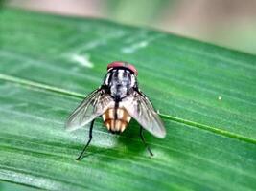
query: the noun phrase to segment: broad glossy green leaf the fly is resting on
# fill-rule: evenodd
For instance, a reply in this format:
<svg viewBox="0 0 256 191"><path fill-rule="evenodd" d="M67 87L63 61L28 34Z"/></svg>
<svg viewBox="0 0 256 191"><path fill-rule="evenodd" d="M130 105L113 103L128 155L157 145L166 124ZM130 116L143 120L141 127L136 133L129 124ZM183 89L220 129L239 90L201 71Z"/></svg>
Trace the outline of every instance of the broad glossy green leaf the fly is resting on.
<svg viewBox="0 0 256 191"><path fill-rule="evenodd" d="M0 13L0 180L50 190L255 190L256 56L104 20ZM66 117L127 60L167 137L111 135ZM22 187L23 189L23 187Z"/></svg>

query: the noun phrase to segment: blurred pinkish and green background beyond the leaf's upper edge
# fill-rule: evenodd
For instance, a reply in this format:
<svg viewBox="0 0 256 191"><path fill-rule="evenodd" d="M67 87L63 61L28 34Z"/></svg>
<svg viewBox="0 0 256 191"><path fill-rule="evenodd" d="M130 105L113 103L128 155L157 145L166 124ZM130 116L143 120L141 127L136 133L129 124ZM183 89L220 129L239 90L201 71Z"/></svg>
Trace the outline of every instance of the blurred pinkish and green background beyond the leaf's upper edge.
<svg viewBox="0 0 256 191"><path fill-rule="evenodd" d="M5 0L16 8L105 18L256 54L255 0Z"/></svg>

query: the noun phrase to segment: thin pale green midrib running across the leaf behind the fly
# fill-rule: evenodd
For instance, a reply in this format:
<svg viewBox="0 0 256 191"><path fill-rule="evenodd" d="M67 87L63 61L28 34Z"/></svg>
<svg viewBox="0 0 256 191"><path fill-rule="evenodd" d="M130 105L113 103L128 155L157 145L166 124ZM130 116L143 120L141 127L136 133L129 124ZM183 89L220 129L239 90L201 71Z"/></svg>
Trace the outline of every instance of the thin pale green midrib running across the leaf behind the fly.
<svg viewBox="0 0 256 191"><path fill-rule="evenodd" d="M8 82L12 82L12 83L16 83L19 85L23 85L23 86L30 86L30 87L34 87L34 88L38 88L38 89L42 89L45 91L49 91L49 92L54 92L54 93L58 93L61 95L65 95L65 96L73 96L73 97L77 97L77 98L84 98L85 95L73 92L73 91L67 91L64 90L62 88L58 88L55 86L50 86L44 83L39 83L39 82L35 82L35 81L31 81L31 80L27 80L24 78L20 78L20 77L15 77L12 75L7 75L7 74L0 74L0 79L4 80L4 81L8 81ZM213 132L215 134L224 136L224 137L228 137L228 138L236 138L245 142L249 142L249 143L253 143L256 144L256 139L255 138L247 138L244 137L240 134L236 134L236 133L232 133L226 130L222 130L221 128L218 127L214 127L214 126L210 126L210 125L206 125L206 124L202 124L202 123L198 123L196 121L192 121L192 120L188 120L188 119L184 119L184 118L180 118L180 117L174 117L174 116L170 116L170 115L166 115L166 114L159 114L160 117L163 117L165 119L169 119L178 123L182 123L185 124L187 126L192 126L192 127L196 127L198 129L203 129L206 131L210 131Z"/></svg>

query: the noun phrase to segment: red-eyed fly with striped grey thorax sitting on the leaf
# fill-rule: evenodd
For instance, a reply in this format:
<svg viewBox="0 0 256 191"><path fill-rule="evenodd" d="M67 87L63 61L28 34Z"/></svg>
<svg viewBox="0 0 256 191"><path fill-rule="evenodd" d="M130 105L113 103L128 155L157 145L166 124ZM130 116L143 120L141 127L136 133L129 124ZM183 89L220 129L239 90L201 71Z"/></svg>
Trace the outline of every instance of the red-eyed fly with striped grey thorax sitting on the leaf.
<svg viewBox="0 0 256 191"><path fill-rule="evenodd" d="M90 144L96 117L103 117L107 130L113 134L122 133L131 117L134 118L140 124L142 142L153 155L145 142L143 129L157 138L164 138L166 131L151 101L138 88L137 75L135 67L127 62L115 61L108 64L103 85L85 97L70 115L66 123L69 131L90 123L89 139L77 160L82 158Z"/></svg>

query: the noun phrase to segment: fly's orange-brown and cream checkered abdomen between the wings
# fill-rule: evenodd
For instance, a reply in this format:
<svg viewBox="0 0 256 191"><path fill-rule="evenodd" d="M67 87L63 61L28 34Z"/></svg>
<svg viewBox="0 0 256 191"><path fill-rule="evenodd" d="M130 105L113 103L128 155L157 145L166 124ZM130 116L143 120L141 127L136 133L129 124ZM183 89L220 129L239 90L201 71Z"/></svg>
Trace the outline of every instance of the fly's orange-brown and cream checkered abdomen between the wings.
<svg viewBox="0 0 256 191"><path fill-rule="evenodd" d="M103 114L105 126L112 133L123 132L127 128L130 118L124 108L109 108Z"/></svg>

